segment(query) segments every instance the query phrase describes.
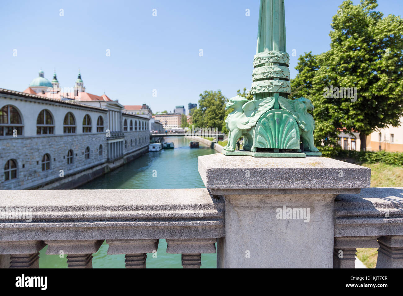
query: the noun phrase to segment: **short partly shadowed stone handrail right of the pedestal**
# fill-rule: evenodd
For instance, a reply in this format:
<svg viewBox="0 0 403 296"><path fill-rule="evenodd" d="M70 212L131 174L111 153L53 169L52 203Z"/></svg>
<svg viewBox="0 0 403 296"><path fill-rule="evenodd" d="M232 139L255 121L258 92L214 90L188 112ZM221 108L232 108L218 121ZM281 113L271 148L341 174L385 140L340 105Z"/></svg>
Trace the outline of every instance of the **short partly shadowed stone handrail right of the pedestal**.
<svg viewBox="0 0 403 296"><path fill-rule="evenodd" d="M403 187L364 188L334 200L334 236L403 234Z"/></svg>

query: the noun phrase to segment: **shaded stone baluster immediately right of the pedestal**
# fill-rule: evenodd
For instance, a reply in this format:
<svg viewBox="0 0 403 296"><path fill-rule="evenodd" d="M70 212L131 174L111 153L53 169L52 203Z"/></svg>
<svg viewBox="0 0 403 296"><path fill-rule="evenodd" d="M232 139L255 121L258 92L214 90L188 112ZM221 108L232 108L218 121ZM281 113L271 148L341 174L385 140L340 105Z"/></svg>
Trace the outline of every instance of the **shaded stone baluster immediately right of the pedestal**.
<svg viewBox="0 0 403 296"><path fill-rule="evenodd" d="M378 248L377 236L334 238L333 268L355 268L357 248Z"/></svg>

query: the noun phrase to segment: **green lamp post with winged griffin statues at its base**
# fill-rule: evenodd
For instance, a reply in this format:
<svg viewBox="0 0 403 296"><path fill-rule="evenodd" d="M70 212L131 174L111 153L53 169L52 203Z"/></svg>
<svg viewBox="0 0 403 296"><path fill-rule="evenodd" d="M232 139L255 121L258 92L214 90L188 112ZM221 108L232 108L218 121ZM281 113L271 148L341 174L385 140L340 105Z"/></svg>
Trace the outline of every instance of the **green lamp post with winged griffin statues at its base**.
<svg viewBox="0 0 403 296"><path fill-rule="evenodd" d="M229 99L234 108L225 120L229 130L225 155L305 157L321 155L314 145L315 121L309 99L288 99L291 93L289 54L286 52L284 0L260 0L258 43L253 58L249 101ZM243 150L235 151L243 136ZM302 149L301 149L302 148Z"/></svg>

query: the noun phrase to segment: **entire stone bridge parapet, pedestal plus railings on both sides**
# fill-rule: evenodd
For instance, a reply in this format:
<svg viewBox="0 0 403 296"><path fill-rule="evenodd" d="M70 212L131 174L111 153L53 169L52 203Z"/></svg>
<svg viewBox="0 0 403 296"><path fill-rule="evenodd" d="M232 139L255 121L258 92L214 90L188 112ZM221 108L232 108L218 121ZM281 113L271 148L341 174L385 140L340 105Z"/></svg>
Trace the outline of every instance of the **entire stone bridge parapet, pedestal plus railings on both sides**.
<svg viewBox="0 0 403 296"><path fill-rule="evenodd" d="M403 188L366 188L367 168L217 153L199 157L199 172L207 188L2 190L0 266L38 268L47 245L69 268L91 268L106 240L107 254L145 268L166 239L184 268L216 251L219 268L353 268L355 248L368 247L379 248L377 268L403 267ZM283 208L310 211L280 219Z"/></svg>

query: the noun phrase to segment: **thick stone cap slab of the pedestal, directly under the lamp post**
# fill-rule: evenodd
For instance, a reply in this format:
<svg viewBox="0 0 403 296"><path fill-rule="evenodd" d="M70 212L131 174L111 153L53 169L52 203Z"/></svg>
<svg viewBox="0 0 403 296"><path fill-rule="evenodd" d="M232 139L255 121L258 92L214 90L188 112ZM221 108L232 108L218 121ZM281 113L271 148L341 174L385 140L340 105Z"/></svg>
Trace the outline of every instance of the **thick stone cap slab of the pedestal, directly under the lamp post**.
<svg viewBox="0 0 403 296"><path fill-rule="evenodd" d="M370 186L371 170L326 157L198 157L199 174L213 194L340 194Z"/></svg>

